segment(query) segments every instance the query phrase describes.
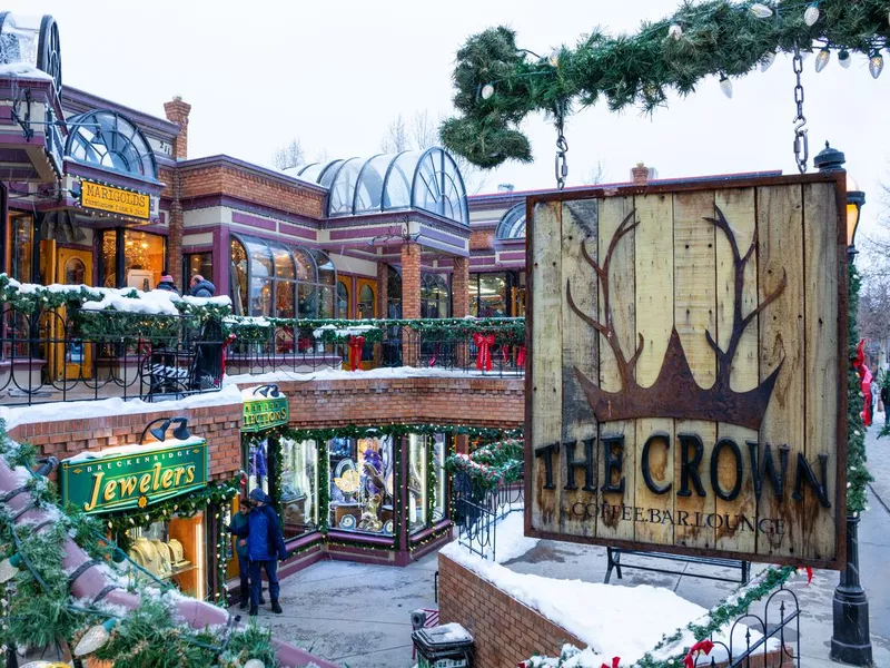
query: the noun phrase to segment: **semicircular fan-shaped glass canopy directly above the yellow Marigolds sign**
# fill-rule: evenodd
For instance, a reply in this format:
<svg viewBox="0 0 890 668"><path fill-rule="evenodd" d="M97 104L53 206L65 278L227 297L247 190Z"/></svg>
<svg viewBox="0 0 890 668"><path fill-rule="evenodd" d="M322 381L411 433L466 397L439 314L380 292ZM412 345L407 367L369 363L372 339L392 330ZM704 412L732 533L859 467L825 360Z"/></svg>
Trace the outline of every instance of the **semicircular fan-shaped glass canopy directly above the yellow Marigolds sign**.
<svg viewBox="0 0 890 668"><path fill-rule="evenodd" d="M157 180L155 153L126 116L93 109L66 121L71 128L65 155L82 165Z"/></svg>

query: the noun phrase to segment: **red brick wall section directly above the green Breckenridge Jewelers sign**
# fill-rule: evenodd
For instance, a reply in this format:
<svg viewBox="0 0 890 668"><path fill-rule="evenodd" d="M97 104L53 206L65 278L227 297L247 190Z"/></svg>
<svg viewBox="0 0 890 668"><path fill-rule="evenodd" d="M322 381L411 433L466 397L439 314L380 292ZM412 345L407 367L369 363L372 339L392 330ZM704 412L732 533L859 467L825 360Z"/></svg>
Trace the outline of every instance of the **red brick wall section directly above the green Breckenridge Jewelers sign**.
<svg viewBox="0 0 890 668"><path fill-rule="evenodd" d="M65 406L59 410L65 411ZM231 404L176 411L177 415L188 418L192 434L207 439L214 480L229 479L241 468L243 410L241 404ZM152 413L21 424L9 433L16 440L36 445L44 456L63 460L87 450L136 443L149 422L169 416L168 411L159 407Z"/></svg>

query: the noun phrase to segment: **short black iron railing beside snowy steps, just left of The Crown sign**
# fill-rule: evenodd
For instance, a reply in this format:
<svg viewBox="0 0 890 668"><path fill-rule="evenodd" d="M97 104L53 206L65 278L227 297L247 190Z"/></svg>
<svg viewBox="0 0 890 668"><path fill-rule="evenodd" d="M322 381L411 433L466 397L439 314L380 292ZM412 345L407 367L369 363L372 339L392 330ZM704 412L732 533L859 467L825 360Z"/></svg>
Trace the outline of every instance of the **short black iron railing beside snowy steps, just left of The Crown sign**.
<svg viewBox="0 0 890 668"><path fill-rule="evenodd" d="M522 512L523 480L486 489L467 473L454 474L455 507L452 519L457 524L458 542L482 557L497 560L497 523L512 512Z"/></svg>

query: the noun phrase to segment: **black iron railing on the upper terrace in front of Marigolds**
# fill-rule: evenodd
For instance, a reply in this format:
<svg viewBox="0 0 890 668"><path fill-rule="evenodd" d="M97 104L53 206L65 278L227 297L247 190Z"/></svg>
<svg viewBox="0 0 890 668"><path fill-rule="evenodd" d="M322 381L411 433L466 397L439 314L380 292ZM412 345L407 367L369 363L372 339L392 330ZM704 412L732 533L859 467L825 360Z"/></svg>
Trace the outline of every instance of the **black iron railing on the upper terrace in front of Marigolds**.
<svg viewBox="0 0 890 668"><path fill-rule="evenodd" d="M219 390L218 320L79 312L0 311L4 405L119 396L160 401Z"/></svg>

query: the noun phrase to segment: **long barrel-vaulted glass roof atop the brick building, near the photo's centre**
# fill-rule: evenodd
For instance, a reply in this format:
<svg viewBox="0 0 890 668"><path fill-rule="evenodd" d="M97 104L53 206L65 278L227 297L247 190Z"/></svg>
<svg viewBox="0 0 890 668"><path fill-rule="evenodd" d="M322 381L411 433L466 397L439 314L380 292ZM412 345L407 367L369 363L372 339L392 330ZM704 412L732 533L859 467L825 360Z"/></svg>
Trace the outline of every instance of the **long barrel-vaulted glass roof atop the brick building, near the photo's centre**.
<svg viewBox="0 0 890 668"><path fill-rule="evenodd" d="M288 173L329 189L328 217L416 208L469 224L464 179L442 148L313 163Z"/></svg>

